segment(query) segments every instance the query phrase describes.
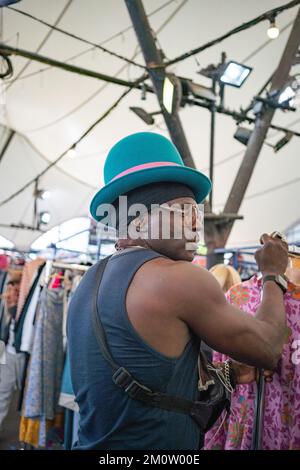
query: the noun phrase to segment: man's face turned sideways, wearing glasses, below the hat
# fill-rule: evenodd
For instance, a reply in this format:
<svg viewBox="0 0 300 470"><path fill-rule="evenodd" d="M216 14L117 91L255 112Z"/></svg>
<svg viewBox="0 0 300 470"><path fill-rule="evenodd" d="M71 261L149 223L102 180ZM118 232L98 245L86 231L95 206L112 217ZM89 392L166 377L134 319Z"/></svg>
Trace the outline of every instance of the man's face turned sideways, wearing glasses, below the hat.
<svg viewBox="0 0 300 470"><path fill-rule="evenodd" d="M150 214L138 217L131 228L137 229L138 238L154 251L171 259L192 261L203 221L195 200L184 197L168 201Z"/></svg>

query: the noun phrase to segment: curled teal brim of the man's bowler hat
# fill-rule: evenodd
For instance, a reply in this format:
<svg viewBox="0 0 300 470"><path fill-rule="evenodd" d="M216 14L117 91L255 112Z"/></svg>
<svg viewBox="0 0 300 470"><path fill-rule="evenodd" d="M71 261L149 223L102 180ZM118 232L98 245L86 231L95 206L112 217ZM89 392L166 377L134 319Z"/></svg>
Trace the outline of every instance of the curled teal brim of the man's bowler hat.
<svg viewBox="0 0 300 470"><path fill-rule="evenodd" d="M121 176L100 189L92 199L90 205L91 215L100 222L104 218L104 216L97 216L97 209L101 204L111 204L119 196L128 193L132 189L143 187L146 184L162 182L185 184L193 191L198 204L206 198L211 190L210 179L194 168L184 166L147 168Z"/></svg>

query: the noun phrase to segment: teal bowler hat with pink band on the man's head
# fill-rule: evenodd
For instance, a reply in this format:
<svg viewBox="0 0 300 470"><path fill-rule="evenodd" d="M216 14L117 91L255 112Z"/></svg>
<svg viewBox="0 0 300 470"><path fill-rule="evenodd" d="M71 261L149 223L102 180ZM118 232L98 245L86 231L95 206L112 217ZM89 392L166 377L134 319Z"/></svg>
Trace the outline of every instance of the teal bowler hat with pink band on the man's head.
<svg viewBox="0 0 300 470"><path fill-rule="evenodd" d="M111 204L119 196L146 184L168 182L189 186L197 203L211 189L211 181L198 170L184 165L175 145L154 132L138 132L117 142L104 164L105 186L98 191L90 206L93 218L101 204Z"/></svg>

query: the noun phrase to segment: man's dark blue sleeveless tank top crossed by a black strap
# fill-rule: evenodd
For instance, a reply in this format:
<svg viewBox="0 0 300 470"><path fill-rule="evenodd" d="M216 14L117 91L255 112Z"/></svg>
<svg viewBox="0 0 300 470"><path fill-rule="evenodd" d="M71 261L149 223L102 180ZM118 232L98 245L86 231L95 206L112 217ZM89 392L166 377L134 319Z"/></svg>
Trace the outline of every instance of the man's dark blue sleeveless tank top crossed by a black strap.
<svg viewBox="0 0 300 470"><path fill-rule="evenodd" d="M158 257L154 251L136 249L109 260L98 297L101 321L115 362L153 391L195 400L199 339L192 336L180 357L169 358L141 338L127 315L125 300L132 278L144 263ZM85 274L68 313L71 377L80 409L76 448L198 449L200 432L192 418L132 400L113 383L111 367L93 332L95 272L93 266Z"/></svg>

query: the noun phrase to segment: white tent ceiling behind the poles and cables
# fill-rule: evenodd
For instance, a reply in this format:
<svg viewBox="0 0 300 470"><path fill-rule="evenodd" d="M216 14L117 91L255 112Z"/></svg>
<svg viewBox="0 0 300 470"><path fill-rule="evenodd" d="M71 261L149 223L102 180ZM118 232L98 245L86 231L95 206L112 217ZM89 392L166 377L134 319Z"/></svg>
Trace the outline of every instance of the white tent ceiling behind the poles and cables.
<svg viewBox="0 0 300 470"><path fill-rule="evenodd" d="M67 0L23 0L14 6L54 24L67 3ZM105 47L126 57L133 57L137 39L132 28L117 35L131 25L123 0L73 0L69 3L59 27L95 43L105 42ZM160 30L159 43L170 59L281 3L288 1L144 0L148 15L165 5L151 14L149 19L152 28ZM296 9L292 8L277 18L277 24L283 31L274 41L267 38L267 23L260 23L199 54L197 59L185 60L170 70L207 85L208 82L197 74L197 62L201 67L218 63L224 50L229 58L244 62L254 69L241 89L226 88L226 105L236 110L240 106L245 107L276 68L295 13ZM285 28L286 25L289 26ZM17 12L2 9L2 41L12 47L37 51L48 33L49 28L44 25ZM107 40L112 36L113 39ZM91 50L90 46L55 31L52 31L39 53L126 80L141 75L141 69L128 66L100 50ZM79 53L83 54L69 60ZM144 63L140 53L135 60ZM13 57L12 62L14 76L6 81L6 91L2 87L1 102L5 101L5 104L0 105L0 122L3 126L15 129L17 134L0 163L0 202L56 159L124 91L120 86L107 85L37 62L30 62L14 81L28 61ZM41 70L44 71L39 72ZM103 184L105 155L118 139L150 129L168 135L160 116L155 126L149 128L129 111L129 106L142 106L149 112L158 109L155 96L148 95L143 102L140 98L139 91L132 91L78 145L76 158L64 157L42 178L40 186L51 190L52 194L51 199L41 206L51 212L49 228L72 217L88 214L89 200ZM180 111L180 117L196 166L208 173L209 112L198 107L185 107ZM278 125L294 130L299 130L298 121L299 110L296 113L277 111L273 120ZM223 208L244 153L244 147L233 139L235 129L236 125L230 117L217 116L214 180L214 209L217 212ZM6 135L5 132L2 134L1 145ZM281 136L280 133L270 131L268 142L274 143ZM263 147L240 209L245 219L235 224L229 240L231 245L255 243L261 232L284 230L299 219L299 142L297 137L293 138L277 154L270 147ZM33 186L0 207L0 223L31 224L32 193ZM0 228L0 235L12 240L17 246L26 247L39 234Z"/></svg>

